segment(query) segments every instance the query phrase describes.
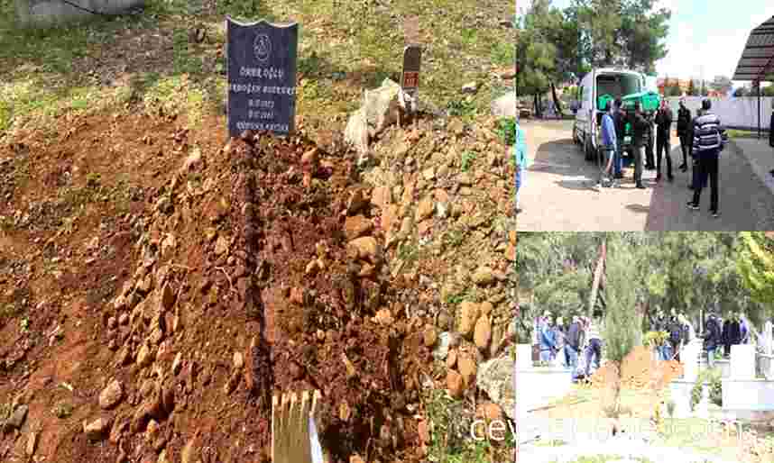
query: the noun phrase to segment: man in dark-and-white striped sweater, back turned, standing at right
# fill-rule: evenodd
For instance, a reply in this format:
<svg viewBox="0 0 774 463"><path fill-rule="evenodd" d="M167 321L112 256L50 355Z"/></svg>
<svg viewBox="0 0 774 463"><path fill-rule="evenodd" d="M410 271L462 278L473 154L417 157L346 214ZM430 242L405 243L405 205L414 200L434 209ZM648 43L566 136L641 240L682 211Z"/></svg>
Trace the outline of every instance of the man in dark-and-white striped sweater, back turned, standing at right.
<svg viewBox="0 0 774 463"><path fill-rule="evenodd" d="M720 118L710 113L712 104L710 100L702 102L702 112L696 116L693 121L694 143L692 153L699 163L698 185L694 185L694 198L688 202L688 209L697 211L699 209L699 199L701 199L702 189L705 186L707 177L710 184L710 213L713 217L718 216L718 159L720 152L725 148L728 137L720 123Z"/></svg>

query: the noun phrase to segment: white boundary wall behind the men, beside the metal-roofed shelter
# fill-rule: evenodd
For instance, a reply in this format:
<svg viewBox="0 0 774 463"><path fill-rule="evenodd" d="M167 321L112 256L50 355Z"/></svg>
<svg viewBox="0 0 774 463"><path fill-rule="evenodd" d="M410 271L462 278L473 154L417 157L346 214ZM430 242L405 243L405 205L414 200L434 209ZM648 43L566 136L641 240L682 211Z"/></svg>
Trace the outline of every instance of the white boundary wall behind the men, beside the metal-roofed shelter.
<svg viewBox="0 0 774 463"><path fill-rule="evenodd" d="M696 110L702 107L704 96L686 96L686 108L691 110L691 115L696 116ZM674 113L674 121L677 123L677 109L679 109L680 97L669 96L669 106ZM742 98L710 98L712 112L720 117L726 127L738 127L758 130L758 97L745 96ZM760 127L769 129L771 122L772 104L774 97L760 97Z"/></svg>

